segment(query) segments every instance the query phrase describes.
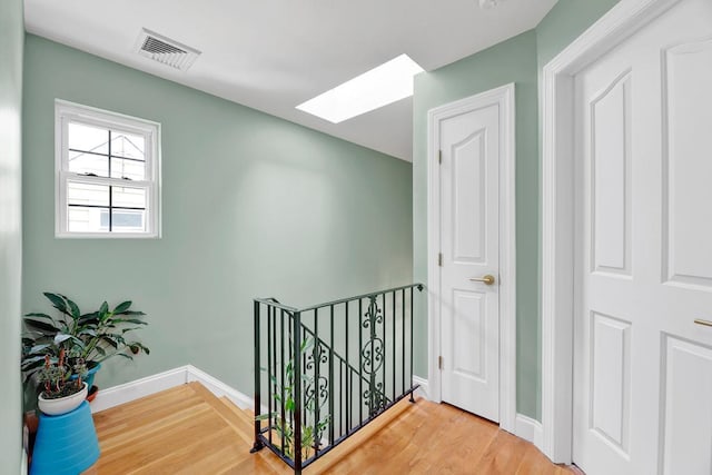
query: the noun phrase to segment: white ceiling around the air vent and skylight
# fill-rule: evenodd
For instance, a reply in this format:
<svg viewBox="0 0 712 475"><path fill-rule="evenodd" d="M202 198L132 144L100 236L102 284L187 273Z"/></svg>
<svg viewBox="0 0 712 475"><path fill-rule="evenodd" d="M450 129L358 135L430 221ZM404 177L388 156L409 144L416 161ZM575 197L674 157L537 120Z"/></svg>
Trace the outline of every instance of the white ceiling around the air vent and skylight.
<svg viewBox="0 0 712 475"><path fill-rule="evenodd" d="M330 123L295 106L406 53L426 71L535 27L556 0L24 0L26 28L405 160L413 102ZM141 28L198 49L178 71L135 52Z"/></svg>

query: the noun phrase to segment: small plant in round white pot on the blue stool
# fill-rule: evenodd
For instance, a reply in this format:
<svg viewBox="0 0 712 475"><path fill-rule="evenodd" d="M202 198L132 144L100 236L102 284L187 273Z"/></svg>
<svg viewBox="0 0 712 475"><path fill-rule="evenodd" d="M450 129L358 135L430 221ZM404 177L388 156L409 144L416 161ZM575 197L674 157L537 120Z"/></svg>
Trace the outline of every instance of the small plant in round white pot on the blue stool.
<svg viewBox="0 0 712 475"><path fill-rule="evenodd" d="M87 374L83 360L78 359L72 368L78 376L76 380L69 380L72 373L65 366L65 349L59 350L57 360L50 355L44 355L44 365L38 372L38 380L42 392L38 397L39 409L50 416L69 413L81 404L87 397L87 383L82 377Z"/></svg>

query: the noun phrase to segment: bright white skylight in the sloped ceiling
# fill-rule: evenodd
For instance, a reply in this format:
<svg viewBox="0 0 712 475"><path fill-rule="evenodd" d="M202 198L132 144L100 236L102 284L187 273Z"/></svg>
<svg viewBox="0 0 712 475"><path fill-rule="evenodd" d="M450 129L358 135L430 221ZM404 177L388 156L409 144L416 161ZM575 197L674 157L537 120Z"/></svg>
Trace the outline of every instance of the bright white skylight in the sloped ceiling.
<svg viewBox="0 0 712 475"><path fill-rule="evenodd" d="M297 109L338 123L413 96L413 77L423 72L407 55L364 72Z"/></svg>

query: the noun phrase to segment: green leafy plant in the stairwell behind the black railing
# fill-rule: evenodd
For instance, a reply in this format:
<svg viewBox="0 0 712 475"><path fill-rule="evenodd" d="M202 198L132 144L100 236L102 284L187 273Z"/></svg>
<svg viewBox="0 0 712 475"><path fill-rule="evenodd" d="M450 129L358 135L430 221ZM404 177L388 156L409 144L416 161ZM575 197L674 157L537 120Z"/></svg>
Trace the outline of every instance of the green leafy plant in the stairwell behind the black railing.
<svg viewBox="0 0 712 475"><path fill-rule="evenodd" d="M301 342L301 346L299 348L299 353L301 356L306 356L309 349L314 346L314 339L307 338ZM316 359L316 358L315 358ZM261 368L265 370L266 368ZM295 400L295 370L294 370L294 359L289 359L285 365L285 377L283 384L279 384L277 378L271 375L270 380L274 387L273 398L277 407L284 409L284 418L283 412L276 410L270 414L260 414L255 417L256 420L274 420L271 425L271 429L274 429L277 435L284 441L284 455L293 458L295 455L295 429L294 429L294 416L296 408ZM308 420L316 420L317 407L320 408L324 403L319 404L318 390L309 392L308 388L315 383L314 377L303 374L303 390L304 395L304 408L307 414L306 420L300 424L301 425L301 454L303 458L309 458L312 456L312 449L318 448L322 441L322 434L328 427L329 416L327 415L324 418L319 418L316 424L309 424ZM281 397L284 394L284 399ZM279 448L281 444L277 444Z"/></svg>

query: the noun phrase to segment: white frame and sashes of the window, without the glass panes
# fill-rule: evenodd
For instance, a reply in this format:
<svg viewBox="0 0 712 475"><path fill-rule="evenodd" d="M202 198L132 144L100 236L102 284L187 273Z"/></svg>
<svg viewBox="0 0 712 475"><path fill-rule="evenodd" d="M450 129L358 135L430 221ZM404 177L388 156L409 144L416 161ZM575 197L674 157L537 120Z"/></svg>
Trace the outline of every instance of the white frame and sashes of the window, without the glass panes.
<svg viewBox="0 0 712 475"><path fill-rule="evenodd" d="M69 171L69 122L119 130L142 136L146 140L146 178L126 181L121 178L93 177ZM55 237L57 238L160 238L160 123L110 112L61 99L55 100ZM87 232L68 229L68 181L146 189L146 230L140 232Z"/></svg>

